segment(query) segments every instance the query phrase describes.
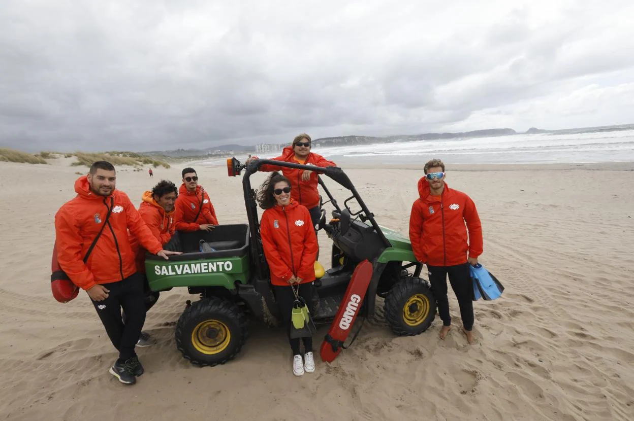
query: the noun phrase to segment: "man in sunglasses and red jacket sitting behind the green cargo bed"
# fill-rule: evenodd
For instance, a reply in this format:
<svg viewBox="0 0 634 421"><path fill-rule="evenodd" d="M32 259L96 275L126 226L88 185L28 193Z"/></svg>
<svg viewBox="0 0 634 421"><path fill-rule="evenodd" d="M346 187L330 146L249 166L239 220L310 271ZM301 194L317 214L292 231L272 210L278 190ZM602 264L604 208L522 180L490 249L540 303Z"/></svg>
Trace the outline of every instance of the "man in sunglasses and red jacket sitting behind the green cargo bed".
<svg viewBox="0 0 634 421"><path fill-rule="evenodd" d="M193 168L184 168L183 184L178 189L176 199L176 230L210 231L218 225L216 210L211 204L209 194L198 185L198 175Z"/></svg>

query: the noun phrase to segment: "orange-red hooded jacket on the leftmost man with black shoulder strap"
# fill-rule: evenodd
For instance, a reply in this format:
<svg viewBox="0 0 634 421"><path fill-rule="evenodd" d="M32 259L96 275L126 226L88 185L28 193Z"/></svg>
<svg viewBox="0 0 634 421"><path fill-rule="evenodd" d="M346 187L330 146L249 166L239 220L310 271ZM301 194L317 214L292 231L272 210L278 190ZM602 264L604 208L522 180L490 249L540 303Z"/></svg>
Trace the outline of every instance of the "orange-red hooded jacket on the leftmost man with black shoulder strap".
<svg viewBox="0 0 634 421"><path fill-rule="evenodd" d="M63 204L55 214L55 235L58 262L72 282L82 289L95 284L110 284L136 272L135 258L128 237L128 229L143 247L159 253L162 246L141 219L139 212L122 191L115 190L108 197L90 190L86 175L75 181L77 196ZM112 213L101 237L84 264L83 258L110 209Z"/></svg>

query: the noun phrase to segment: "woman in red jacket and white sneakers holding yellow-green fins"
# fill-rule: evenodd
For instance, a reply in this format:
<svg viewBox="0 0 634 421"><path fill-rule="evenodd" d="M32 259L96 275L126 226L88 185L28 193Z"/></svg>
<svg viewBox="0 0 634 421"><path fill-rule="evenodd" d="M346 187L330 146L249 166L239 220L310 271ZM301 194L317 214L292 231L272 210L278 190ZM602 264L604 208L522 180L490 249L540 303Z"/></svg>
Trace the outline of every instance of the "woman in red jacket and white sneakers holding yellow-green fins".
<svg viewBox="0 0 634 421"><path fill-rule="evenodd" d="M299 338L290 338L290 315L295 291L310 306L313 301L315 279L314 262L317 256L317 236L311 227L311 214L306 206L291 197L290 181L274 172L262 184L257 201L264 209L260 234L264 256L271 271L271 284L280 306L284 322L288 324L288 339L293 351L293 374L303 375L315 370L313 338L304 337L304 358Z"/></svg>

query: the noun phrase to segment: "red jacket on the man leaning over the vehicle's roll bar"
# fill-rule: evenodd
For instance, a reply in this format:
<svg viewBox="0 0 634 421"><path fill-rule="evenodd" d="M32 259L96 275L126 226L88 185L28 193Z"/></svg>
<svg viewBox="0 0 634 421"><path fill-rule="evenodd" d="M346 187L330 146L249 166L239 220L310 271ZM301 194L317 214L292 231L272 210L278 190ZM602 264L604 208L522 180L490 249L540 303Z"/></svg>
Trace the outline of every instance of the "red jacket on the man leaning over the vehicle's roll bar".
<svg viewBox="0 0 634 421"><path fill-rule="evenodd" d="M257 157L255 157L257 158ZM275 161L284 161L297 163L295 160L295 152L290 146L283 149L281 156L273 158ZM316 153L309 153L305 161L306 165L312 164L316 167L337 167L333 161L328 161L321 155ZM302 173L304 170L297 170L295 168L278 167L277 165L262 165L260 171L271 172L280 171L284 177L290 180L290 197L295 199L299 204L303 204L308 209L312 209L315 206L319 206L319 191L318 185L318 173L311 173L311 178L308 181L302 180Z"/></svg>

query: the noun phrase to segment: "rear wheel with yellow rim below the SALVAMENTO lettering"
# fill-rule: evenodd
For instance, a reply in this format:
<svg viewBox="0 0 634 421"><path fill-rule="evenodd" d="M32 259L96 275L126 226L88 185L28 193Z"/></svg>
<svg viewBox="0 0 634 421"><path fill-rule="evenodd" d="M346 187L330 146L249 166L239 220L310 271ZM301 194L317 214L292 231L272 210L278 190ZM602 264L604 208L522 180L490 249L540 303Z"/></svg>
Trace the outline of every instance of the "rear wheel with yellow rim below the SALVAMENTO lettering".
<svg viewBox="0 0 634 421"><path fill-rule="evenodd" d="M201 299L183 311L179 318L175 333L176 348L195 365L213 367L224 364L240 352L247 339L248 324L249 319L235 303L217 297ZM217 333L219 330L220 334ZM203 332L216 334L208 339ZM209 343L202 342L200 337ZM214 341L221 342L217 344L217 349L214 349Z"/></svg>

